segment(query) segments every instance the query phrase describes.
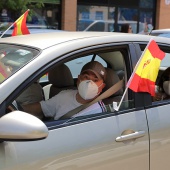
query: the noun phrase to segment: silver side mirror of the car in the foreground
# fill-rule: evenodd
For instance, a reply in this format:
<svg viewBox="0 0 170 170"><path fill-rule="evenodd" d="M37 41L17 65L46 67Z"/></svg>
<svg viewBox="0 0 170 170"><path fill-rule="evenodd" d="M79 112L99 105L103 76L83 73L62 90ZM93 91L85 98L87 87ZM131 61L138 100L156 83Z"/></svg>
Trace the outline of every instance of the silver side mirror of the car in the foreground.
<svg viewBox="0 0 170 170"><path fill-rule="evenodd" d="M31 114L13 111L0 118L1 141L41 140L47 136L47 126Z"/></svg>

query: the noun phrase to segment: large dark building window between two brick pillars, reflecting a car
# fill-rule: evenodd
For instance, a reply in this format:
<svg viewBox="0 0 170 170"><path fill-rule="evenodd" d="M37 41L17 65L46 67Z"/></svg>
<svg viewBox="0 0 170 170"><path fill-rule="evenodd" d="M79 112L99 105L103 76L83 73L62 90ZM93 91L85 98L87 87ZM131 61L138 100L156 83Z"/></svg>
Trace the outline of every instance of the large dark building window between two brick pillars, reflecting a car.
<svg viewBox="0 0 170 170"><path fill-rule="evenodd" d="M146 33L155 24L156 0L79 0L77 30L119 32L121 25L128 23L133 33ZM83 17L86 12L89 17ZM85 20L86 19L86 20ZM100 20L100 21L99 21ZM97 30L95 30L97 29Z"/></svg>

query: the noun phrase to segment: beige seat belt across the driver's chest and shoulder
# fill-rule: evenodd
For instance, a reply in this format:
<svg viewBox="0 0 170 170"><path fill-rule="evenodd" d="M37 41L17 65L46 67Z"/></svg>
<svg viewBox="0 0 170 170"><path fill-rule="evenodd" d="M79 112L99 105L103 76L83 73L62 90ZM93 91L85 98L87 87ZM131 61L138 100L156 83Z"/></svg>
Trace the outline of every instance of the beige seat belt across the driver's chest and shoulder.
<svg viewBox="0 0 170 170"><path fill-rule="evenodd" d="M110 87L108 90L106 90L104 93L102 93L101 95L99 95L97 98L95 98L93 101L91 101L90 103L81 105L79 107L76 107L73 110L70 110L69 112L67 112L65 115L63 115L60 119L67 119L72 117L73 115L79 113L80 111L86 109L87 107L91 106L94 103L97 103L100 100L103 100L107 97L110 97L111 95L113 95L114 93L116 93L117 91L119 91L124 84L124 79L120 80L119 82L117 82L116 84L114 84L112 87Z"/></svg>

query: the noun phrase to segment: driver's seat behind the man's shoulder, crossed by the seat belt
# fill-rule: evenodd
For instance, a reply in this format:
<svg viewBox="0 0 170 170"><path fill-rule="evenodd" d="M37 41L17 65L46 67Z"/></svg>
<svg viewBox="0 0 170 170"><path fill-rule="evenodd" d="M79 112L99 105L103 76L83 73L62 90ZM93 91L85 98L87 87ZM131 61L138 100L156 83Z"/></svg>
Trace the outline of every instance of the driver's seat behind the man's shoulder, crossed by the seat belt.
<svg viewBox="0 0 170 170"><path fill-rule="evenodd" d="M106 86L103 89L103 92L105 92L110 87L112 87L114 84L120 81L119 76L111 68L106 68L106 71L107 71L106 80L105 80ZM113 103L113 101L119 102L122 98L122 95L123 95L123 89L120 89L119 91L111 95L110 97L103 99L103 103L105 105L108 105L108 104Z"/></svg>

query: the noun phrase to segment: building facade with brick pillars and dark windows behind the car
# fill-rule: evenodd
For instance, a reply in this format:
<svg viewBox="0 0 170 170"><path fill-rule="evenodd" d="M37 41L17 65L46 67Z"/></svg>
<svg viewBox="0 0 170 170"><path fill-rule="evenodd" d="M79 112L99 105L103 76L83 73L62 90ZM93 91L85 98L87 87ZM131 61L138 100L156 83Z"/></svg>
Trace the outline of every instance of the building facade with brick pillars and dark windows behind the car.
<svg viewBox="0 0 170 170"><path fill-rule="evenodd" d="M38 0L32 0L35 3ZM147 29L170 28L170 0L43 0L44 7L28 24L50 26L67 31L120 31L128 23L133 33ZM14 22L9 10L3 9L0 24ZM5 20L5 21L4 21Z"/></svg>

